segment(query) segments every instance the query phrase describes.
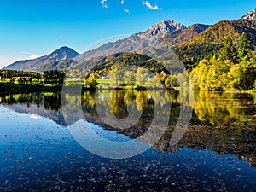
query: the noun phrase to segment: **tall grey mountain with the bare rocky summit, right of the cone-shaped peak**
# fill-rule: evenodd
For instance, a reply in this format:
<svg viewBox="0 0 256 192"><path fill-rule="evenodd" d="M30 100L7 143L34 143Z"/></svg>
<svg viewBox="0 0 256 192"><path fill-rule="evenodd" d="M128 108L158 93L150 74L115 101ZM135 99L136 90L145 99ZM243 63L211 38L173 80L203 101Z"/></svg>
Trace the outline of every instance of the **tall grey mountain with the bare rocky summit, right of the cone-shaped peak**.
<svg viewBox="0 0 256 192"><path fill-rule="evenodd" d="M114 61L127 61L125 60L125 57L129 57L129 60L133 61L136 56L131 53L127 55L124 54L131 50L137 50L137 53L142 55L161 55L162 52L157 47L158 42L161 41L163 44L167 44L169 48L177 47L178 45L194 38L208 27L209 26L207 25L195 24L186 28L182 24L176 23L173 20L163 20L159 24L150 27L146 32L131 35L131 37L119 40L115 43L103 44L98 49L87 51L73 59L80 61L79 63L75 63L75 61L73 61L67 65L66 62L55 61L54 63L45 66L43 69L50 70L71 67L72 69L79 69L80 71L89 71L90 68L96 64L97 66L99 66L99 64L103 65L104 62L102 61L105 60L106 57L109 59L109 56L111 56ZM155 46L148 46L150 45L148 42ZM145 58L141 57L141 59L143 61ZM42 68L40 71L42 71Z"/></svg>

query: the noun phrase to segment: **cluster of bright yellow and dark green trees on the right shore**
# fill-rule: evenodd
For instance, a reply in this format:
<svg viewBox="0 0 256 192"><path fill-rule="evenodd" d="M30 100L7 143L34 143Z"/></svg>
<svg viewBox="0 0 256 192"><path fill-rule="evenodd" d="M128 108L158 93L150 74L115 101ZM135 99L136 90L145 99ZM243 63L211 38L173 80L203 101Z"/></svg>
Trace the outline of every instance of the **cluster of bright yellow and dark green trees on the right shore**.
<svg viewBox="0 0 256 192"><path fill-rule="evenodd" d="M256 58L245 33L224 39L216 55L203 59L190 73L194 90L256 90Z"/></svg>

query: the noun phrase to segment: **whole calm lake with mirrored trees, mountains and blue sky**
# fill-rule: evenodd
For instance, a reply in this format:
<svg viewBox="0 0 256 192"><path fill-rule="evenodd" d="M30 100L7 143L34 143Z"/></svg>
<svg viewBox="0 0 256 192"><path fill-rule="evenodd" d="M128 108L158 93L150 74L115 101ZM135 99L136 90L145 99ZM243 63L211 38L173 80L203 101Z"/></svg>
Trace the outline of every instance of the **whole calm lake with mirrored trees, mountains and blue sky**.
<svg viewBox="0 0 256 192"><path fill-rule="evenodd" d="M193 95L1 95L0 191L255 191L256 95Z"/></svg>

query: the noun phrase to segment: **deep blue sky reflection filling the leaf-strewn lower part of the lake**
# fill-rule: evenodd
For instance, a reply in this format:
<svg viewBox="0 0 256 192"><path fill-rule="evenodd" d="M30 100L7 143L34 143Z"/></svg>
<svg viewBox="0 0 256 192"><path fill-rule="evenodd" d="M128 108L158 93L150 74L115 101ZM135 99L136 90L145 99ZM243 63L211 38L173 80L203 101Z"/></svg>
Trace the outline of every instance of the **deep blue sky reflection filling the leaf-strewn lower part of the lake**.
<svg viewBox="0 0 256 192"><path fill-rule="evenodd" d="M189 148L164 154L149 149L130 159L109 160L81 148L66 126L33 113L16 113L1 105L0 113L0 191L13 187L17 191L84 191L93 187L253 191L256 187L256 169L230 154ZM90 125L102 137L130 139Z"/></svg>

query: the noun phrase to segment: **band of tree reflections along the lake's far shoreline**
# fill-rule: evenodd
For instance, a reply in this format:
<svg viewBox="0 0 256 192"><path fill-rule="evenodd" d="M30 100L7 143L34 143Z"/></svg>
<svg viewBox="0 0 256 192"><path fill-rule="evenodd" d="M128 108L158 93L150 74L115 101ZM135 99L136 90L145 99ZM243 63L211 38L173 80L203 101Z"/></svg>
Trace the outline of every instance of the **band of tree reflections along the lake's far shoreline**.
<svg viewBox="0 0 256 192"><path fill-rule="evenodd" d="M184 95L184 94L183 94ZM214 92L195 92L193 104L194 119L198 119L206 125L230 125L236 122L241 125L253 125L255 119L256 94L238 93L214 93ZM165 108L166 99L171 102L171 116L169 125L175 125L180 112L180 95L178 91L170 91L164 94L160 91L136 91L136 90L114 90L102 91L97 98L102 108L110 108L111 112L122 119L128 116L127 105L132 100L137 101L137 110L143 110L143 118L152 119L154 117L154 104ZM154 97L154 98L153 98ZM78 96L65 96L66 100L72 100L73 105L79 107ZM242 99L242 102L241 102ZM29 108L31 104L44 107L47 110L59 110L61 108L61 93L28 93L0 96L0 102L5 105L26 103ZM138 104L140 103L140 104ZM95 93L84 92L82 95L82 107L84 112L96 115ZM195 120L195 123L199 123ZM149 120L150 121L150 120ZM149 122L148 121L148 122Z"/></svg>

